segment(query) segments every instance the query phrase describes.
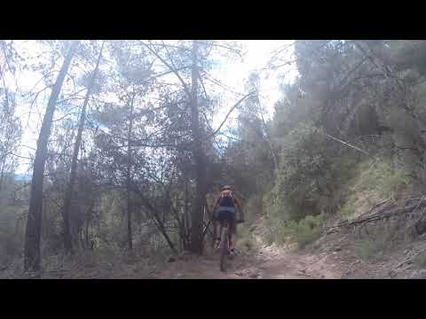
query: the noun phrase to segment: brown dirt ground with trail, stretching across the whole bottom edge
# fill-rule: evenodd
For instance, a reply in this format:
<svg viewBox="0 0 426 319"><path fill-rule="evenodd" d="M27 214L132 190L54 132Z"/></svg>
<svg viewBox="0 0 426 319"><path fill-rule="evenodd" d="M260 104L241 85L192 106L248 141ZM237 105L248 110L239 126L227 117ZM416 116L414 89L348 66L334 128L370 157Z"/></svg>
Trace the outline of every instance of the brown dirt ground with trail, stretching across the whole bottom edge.
<svg viewBox="0 0 426 319"><path fill-rule="evenodd" d="M244 226L243 226L244 227ZM245 226L248 227L248 226ZM167 279L340 279L340 278L426 278L426 269L417 268L414 258L426 253L426 235L418 241L387 253L377 261L359 259L353 243L344 234L321 237L304 251L266 245L268 230L259 217L251 227L252 248L239 252L219 271L217 252L203 256L180 254L158 259L130 258L128 261L96 263L91 267L76 262L76 268L52 270L45 278L167 278ZM245 238L246 239L246 238ZM254 242L254 243L253 243ZM237 245L238 248L243 245ZM73 267L74 267L73 266ZM77 267L78 266L78 267ZM0 270L0 277L14 276Z"/></svg>

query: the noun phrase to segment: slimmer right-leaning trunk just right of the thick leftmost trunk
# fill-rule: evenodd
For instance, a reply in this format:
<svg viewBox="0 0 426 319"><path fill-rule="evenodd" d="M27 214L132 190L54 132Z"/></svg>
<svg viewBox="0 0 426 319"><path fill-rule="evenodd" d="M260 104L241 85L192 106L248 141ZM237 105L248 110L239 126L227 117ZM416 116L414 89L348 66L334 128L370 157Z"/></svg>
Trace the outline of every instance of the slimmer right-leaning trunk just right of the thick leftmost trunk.
<svg viewBox="0 0 426 319"><path fill-rule="evenodd" d="M64 218L64 248L67 253L72 253L73 251L73 238L71 236L71 231L70 231L70 209L71 209L71 201L74 198L74 185L75 185L75 177L77 173L78 152L80 151L80 145L82 144L82 135L83 135L83 128L84 128L84 121L86 118L87 104L89 102L89 97L91 96L91 89L93 87L93 83L95 82L96 74L98 73L99 61L100 61L100 57L102 56L103 48L104 48L104 43L102 43L102 46L100 48L98 61L96 63L95 69L93 70L93 74L91 75L91 82L89 82L86 96L84 97L83 108L82 108L82 113L80 114L80 121L78 125L77 136L75 138L73 159L71 160L71 171L69 173L69 182L67 185L67 191L65 193L63 218Z"/></svg>

